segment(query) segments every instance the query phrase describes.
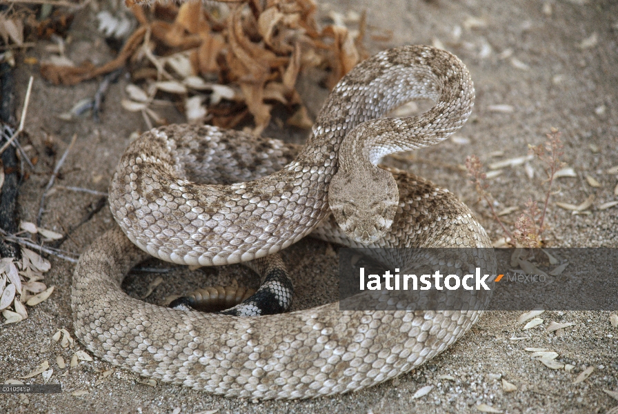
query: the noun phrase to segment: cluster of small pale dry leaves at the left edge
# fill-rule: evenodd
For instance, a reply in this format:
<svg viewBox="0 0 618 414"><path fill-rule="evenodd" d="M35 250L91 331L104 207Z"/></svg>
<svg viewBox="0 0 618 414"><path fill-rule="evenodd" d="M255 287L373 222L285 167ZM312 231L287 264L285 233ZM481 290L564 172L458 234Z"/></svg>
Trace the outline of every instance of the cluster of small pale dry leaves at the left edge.
<svg viewBox="0 0 618 414"><path fill-rule="evenodd" d="M41 235L46 232L52 237L57 235L50 230L40 230L43 230ZM19 261L12 257L0 260L0 311L4 324L26 319L28 311L24 304L35 306L50 297L54 291L54 286L48 288L41 282L43 273L50 270L50 262L28 248L22 247L21 254Z"/></svg>

